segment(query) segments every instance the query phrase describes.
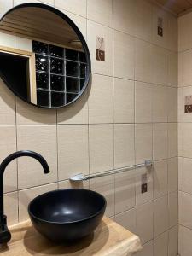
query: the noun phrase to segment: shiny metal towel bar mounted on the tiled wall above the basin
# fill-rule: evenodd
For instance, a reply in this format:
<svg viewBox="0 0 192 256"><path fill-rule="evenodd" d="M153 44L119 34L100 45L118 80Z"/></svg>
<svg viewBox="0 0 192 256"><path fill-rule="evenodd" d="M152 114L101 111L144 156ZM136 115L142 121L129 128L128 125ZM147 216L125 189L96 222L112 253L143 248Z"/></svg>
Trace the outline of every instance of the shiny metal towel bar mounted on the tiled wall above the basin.
<svg viewBox="0 0 192 256"><path fill-rule="evenodd" d="M79 181L89 180L89 179L95 178L95 177L103 177L103 176L112 175L112 174L116 174L116 173L120 173L120 172L126 172L126 171L136 169L136 168L150 167L152 165L153 165L152 160L145 160L142 164L138 164L135 166L127 166L127 167L123 167L123 168L119 168L119 169L115 169L115 170L109 170L109 171L105 171L105 172L97 172L97 173L90 174L90 175L84 175L83 173L79 173L73 177L70 177L69 180L72 182L79 182Z"/></svg>

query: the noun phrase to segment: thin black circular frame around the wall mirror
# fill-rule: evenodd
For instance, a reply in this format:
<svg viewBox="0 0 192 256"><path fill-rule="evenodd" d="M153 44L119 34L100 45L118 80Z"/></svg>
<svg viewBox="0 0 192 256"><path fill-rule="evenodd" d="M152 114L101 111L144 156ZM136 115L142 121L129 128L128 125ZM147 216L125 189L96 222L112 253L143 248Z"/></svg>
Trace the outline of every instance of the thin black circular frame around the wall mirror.
<svg viewBox="0 0 192 256"><path fill-rule="evenodd" d="M67 107L68 105L71 105L73 104L73 102L76 102L80 96L83 95L84 93L84 90L87 88L88 84L89 84L89 81L90 81L90 75L91 75L91 61L90 61L90 51L88 49L88 46L86 44L86 41L84 39L84 36L83 34L80 32L78 26L75 25L75 23L73 22L73 20L71 20L67 15L65 15L64 13L62 13L59 9L55 9L55 7L52 7L52 6L49 6L47 4L44 4L44 3L22 3L22 4L19 4L19 5L16 5L14 8L12 9L9 9L3 16L2 18L0 19L0 22L3 20L3 18L8 15L10 12L12 12L13 10L15 9L20 9L20 8L26 8L26 7L38 7L38 8L43 8L43 9L47 9L53 13L55 13L55 15L59 15L61 17L61 19L67 21L68 25L71 26L74 30L74 32L76 32L76 34L78 35L80 41L81 41L81 44L83 45L83 48L84 48L84 53L85 53L85 56L86 56L86 61L87 61L87 76L86 76L86 79L85 79L85 82L84 82L84 87L82 88L82 90L80 91L79 93L79 96L77 96L75 99L73 99L72 102L68 102L66 105L64 106L60 106L60 107L44 107L44 106L38 106L32 102L27 102L25 98L23 98L22 96L20 96L15 90L12 89L12 87L9 85L9 83L7 82L7 80L4 78L1 70L0 70L0 77L1 79L3 79L3 82L4 84L6 84L8 87L9 87L9 90L11 90L15 96L18 96L21 100L23 100L24 102L28 103L28 104L31 104L35 107L38 107L38 108L46 108L46 109L57 109L57 108L64 108L64 107Z"/></svg>

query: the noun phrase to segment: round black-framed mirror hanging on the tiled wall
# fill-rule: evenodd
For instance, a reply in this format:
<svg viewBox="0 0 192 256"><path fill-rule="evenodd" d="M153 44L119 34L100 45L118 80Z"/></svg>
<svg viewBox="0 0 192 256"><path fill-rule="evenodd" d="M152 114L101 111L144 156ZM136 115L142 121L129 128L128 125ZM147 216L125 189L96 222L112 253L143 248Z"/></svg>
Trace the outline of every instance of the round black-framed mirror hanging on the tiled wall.
<svg viewBox="0 0 192 256"><path fill-rule="evenodd" d="M0 45L0 76L16 96L41 108L61 108L83 94L90 53L67 15L41 3L21 4L3 15L0 32L30 44L30 50Z"/></svg>

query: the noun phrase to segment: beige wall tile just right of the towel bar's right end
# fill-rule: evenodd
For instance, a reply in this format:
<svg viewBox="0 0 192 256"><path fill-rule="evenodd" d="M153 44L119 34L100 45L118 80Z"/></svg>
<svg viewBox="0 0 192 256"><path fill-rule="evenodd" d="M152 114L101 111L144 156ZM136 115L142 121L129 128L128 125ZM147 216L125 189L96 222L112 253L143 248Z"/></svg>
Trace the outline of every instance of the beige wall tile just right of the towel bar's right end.
<svg viewBox="0 0 192 256"><path fill-rule="evenodd" d="M154 162L154 198L166 195L168 191L167 160Z"/></svg>

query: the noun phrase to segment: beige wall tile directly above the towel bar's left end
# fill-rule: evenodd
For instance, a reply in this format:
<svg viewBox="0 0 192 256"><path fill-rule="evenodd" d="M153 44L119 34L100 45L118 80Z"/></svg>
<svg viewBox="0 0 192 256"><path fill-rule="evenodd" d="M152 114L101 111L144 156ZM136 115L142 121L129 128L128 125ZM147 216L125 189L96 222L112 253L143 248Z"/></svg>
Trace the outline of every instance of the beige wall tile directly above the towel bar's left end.
<svg viewBox="0 0 192 256"><path fill-rule="evenodd" d="M89 173L88 125L58 125L59 180Z"/></svg>

